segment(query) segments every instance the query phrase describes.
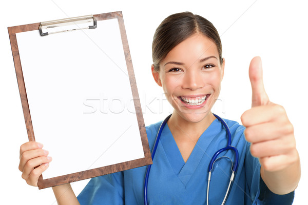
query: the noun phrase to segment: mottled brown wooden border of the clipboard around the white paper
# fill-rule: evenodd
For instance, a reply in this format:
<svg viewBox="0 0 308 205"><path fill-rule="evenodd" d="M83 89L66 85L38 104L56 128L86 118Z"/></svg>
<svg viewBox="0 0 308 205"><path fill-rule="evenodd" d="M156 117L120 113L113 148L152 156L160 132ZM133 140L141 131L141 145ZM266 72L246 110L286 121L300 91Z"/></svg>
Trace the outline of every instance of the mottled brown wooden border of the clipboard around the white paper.
<svg viewBox="0 0 308 205"><path fill-rule="evenodd" d="M138 130L140 132L141 144L142 144L144 157L129 160L129 161L124 161L120 163L115 163L113 165L108 165L108 166L99 167L95 169L83 170L83 171L65 174L65 175L56 176L56 177L51 177L51 178L43 179L43 176L41 175L38 180L39 189L62 185L64 183L97 177L100 175L110 174L110 173L119 172L119 171L123 171L127 169L137 168L137 167L149 165L152 163L146 130L145 130L145 125L144 125L144 120L143 120L143 115L142 115L142 110L141 110L141 105L139 101L136 80L134 78L134 72L133 72L131 57L130 57L129 48L128 48L128 42L127 42L127 36L125 32L122 12L118 11L118 12L97 14L97 15L93 15L93 19L97 22L108 20L108 19L118 20L122 44L123 44L124 56L125 56L125 61L126 61L127 74L129 77L129 83L130 83L131 93L133 97L131 101L133 101L134 110L136 111L136 117L138 121ZM33 129L33 125L32 125L32 122L34 121L32 121L31 119L31 114L32 114L31 108L30 108L31 105L28 102L27 92L26 92L27 82L25 83L25 80L24 80L23 62L20 57L20 50L18 50L16 34L22 33L22 32L28 32L28 31L36 31L36 30L37 32L39 32L41 28L42 28L42 24L40 23L8 27L11 49L12 49L14 65L15 65L15 71L16 71L16 76L17 76L17 83L18 83L18 88L20 91L29 141L35 141L34 136L36 132L35 132L35 129ZM71 32L75 32L75 31L71 31ZM43 32L41 32L41 35L42 33ZM56 34L52 34L52 35L56 35ZM42 36L42 38L44 38L44 36ZM119 153L120 152L121 150L119 151ZM121 153L121 154L125 155L125 153ZM50 166L51 165L52 165L52 162L50 163Z"/></svg>

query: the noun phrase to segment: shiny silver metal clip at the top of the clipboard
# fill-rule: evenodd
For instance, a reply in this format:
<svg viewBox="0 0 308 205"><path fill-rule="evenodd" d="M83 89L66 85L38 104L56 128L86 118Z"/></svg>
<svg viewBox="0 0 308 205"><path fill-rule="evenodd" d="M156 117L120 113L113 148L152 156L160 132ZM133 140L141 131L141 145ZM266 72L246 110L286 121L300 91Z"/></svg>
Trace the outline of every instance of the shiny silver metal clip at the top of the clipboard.
<svg viewBox="0 0 308 205"><path fill-rule="evenodd" d="M38 25L41 36L52 33L95 28L97 28L97 20L93 15L51 20L49 22L42 22Z"/></svg>

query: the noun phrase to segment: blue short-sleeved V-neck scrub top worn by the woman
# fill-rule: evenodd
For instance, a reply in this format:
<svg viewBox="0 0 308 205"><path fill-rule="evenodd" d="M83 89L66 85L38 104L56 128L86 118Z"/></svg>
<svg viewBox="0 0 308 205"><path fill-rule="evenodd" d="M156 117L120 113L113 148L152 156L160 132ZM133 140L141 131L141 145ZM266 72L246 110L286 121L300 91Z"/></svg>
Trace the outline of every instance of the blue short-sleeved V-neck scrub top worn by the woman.
<svg viewBox="0 0 308 205"><path fill-rule="evenodd" d="M260 177L258 158L251 155L244 127L225 119L232 146L239 151L239 165L225 204L292 204L294 192L276 195ZM152 149L161 122L146 127ZM206 204L208 166L216 151L227 145L226 130L218 119L200 136L186 163L168 125L163 128L148 181L148 204ZM209 204L221 204L226 193L235 156L223 152L214 163ZM229 158L227 158L229 157ZM78 196L80 204L144 204L146 166L92 178Z"/></svg>

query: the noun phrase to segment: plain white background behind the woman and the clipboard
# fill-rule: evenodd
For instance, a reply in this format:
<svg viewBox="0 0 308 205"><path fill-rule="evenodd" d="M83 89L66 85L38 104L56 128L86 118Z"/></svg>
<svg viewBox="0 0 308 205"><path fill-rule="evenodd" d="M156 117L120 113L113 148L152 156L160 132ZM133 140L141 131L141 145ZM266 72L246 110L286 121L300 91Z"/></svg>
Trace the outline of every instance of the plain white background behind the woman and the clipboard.
<svg viewBox="0 0 308 205"><path fill-rule="evenodd" d="M51 189L30 187L18 171L19 149L28 136L16 81L7 27L122 10L145 124L171 109L152 80L151 39L168 15L191 11L210 20L222 39L226 59L222 91L214 111L240 121L251 106L249 61L261 56L265 89L281 104L295 128L302 177L294 204L306 201L308 114L306 91L307 22L305 1L5 1L0 4L0 177L1 204L56 204ZM206 177L206 176L205 176ZM73 183L79 194L87 180Z"/></svg>

